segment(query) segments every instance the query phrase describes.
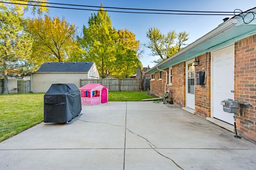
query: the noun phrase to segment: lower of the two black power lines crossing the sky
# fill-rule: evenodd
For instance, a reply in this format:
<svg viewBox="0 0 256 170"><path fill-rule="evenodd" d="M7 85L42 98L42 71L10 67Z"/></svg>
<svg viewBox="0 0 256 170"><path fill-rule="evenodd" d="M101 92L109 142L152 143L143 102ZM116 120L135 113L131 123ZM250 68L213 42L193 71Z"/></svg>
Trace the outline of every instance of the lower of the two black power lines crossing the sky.
<svg viewBox="0 0 256 170"><path fill-rule="evenodd" d="M21 0L20 0L21 1ZM31 2L31 1L30 1ZM0 2L5 4L16 4L16 5L27 5L27 6L38 6L38 7L51 7L51 8L61 8L68 10L83 10L83 11L100 11L88 8L74 8L74 7L61 7L61 6L46 6L46 5L36 5L36 4L22 4L22 3L12 3L12 2ZM167 15L234 15L234 14L209 14L209 13L163 13L163 12L133 12L133 11L112 11L106 10L107 12L117 12L117 13L134 13L134 14L167 14Z"/></svg>

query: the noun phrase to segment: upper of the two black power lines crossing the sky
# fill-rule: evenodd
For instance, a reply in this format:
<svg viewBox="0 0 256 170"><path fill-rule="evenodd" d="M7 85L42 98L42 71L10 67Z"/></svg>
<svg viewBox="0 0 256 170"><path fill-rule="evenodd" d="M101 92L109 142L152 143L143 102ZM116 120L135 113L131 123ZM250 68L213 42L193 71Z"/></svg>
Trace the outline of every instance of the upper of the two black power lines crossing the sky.
<svg viewBox="0 0 256 170"><path fill-rule="evenodd" d="M29 1L29 0L19 0L23 2L33 2L33 3L44 3L39 1ZM79 5L79 4L63 4L63 3L52 3L47 2L47 4L53 5L67 5L67 6L82 6L82 7L103 7L103 8L112 8L118 10L139 10L139 11L164 11L164 12L193 12L193 13L234 13L234 11L186 11L186 10L157 10L157 9L148 9L148 8L126 8L126 7L110 7L110 6L93 6L93 5ZM237 12L240 13L240 12Z"/></svg>

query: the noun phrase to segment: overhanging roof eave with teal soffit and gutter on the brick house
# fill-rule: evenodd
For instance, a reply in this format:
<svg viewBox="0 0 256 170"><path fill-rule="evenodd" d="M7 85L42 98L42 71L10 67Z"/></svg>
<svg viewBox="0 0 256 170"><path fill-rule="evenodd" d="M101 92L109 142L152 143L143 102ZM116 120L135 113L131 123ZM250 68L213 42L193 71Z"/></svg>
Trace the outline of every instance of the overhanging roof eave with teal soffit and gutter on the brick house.
<svg viewBox="0 0 256 170"><path fill-rule="evenodd" d="M256 8L245 12L256 12ZM218 25L217 28L198 38L187 45L178 53L167 58L165 61L155 65L146 73L155 73L158 69L166 69L172 65L195 58L196 56L211 52L225 45L234 44L236 41L256 34L256 19L245 24L241 16L234 16L226 22Z"/></svg>

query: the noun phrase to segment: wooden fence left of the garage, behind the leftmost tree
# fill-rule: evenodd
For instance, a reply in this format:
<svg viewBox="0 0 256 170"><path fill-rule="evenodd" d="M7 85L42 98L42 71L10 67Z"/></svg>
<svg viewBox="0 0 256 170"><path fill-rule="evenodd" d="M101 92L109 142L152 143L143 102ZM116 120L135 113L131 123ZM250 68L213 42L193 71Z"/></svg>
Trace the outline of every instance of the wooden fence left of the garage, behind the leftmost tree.
<svg viewBox="0 0 256 170"><path fill-rule="evenodd" d="M4 89L4 80L0 79L0 94L3 94ZM10 94L22 94L30 92L30 80L17 80L9 79L8 80L8 90Z"/></svg>

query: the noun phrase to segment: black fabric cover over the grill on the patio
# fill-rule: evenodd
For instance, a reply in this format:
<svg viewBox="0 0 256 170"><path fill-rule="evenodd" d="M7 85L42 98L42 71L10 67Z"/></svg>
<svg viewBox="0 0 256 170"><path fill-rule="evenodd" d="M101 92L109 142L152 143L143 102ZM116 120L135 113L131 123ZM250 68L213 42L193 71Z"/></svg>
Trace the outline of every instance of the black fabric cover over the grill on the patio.
<svg viewBox="0 0 256 170"><path fill-rule="evenodd" d="M75 84L52 84L44 95L44 122L65 123L82 110L80 91Z"/></svg>

